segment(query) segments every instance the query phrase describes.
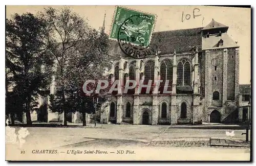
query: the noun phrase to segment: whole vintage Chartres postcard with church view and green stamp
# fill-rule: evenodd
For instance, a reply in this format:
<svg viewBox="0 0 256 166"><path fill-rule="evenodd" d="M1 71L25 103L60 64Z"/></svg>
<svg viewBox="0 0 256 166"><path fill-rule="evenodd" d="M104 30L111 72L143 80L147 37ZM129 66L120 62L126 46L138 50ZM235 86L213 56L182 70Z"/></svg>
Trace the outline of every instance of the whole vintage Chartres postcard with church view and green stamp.
<svg viewBox="0 0 256 166"><path fill-rule="evenodd" d="M6 6L6 160L250 161L251 8Z"/></svg>

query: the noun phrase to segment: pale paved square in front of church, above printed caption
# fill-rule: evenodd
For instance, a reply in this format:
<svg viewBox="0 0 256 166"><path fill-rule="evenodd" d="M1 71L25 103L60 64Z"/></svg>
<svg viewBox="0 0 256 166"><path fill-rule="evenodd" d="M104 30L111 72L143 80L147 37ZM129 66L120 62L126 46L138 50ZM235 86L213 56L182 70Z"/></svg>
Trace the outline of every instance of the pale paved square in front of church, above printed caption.
<svg viewBox="0 0 256 166"><path fill-rule="evenodd" d="M181 128L184 127L184 128ZM193 128L191 128L193 127ZM29 135L26 143L29 145L45 144L47 147L83 147L121 145L138 146L210 146L212 140L236 140L236 144L247 146L244 142L245 130L234 130L234 136L226 135L230 129L204 129L196 126L147 126L147 125L107 125L89 124L87 127L76 128L47 128L28 127ZM16 129L18 130L18 128ZM250 137L250 135L249 135ZM215 144L212 142L212 144Z"/></svg>

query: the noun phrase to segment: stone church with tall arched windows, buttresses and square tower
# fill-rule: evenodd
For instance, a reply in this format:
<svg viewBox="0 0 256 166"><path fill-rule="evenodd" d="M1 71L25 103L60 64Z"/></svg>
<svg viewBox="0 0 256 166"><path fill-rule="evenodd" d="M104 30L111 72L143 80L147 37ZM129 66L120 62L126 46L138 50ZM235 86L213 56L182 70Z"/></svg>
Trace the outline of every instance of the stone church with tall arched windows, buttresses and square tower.
<svg viewBox="0 0 256 166"><path fill-rule="evenodd" d="M212 19L206 27L155 32L156 54L142 59L122 53L112 42L109 80L169 80L170 94L112 93L101 106L102 123L134 125L234 122L238 118L239 45L228 26ZM153 87L154 85L152 85Z"/></svg>

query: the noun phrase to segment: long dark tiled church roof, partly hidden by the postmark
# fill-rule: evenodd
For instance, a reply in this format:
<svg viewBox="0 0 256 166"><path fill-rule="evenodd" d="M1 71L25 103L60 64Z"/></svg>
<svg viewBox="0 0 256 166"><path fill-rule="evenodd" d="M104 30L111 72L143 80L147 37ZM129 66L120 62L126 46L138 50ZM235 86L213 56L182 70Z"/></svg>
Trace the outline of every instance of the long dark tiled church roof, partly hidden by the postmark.
<svg viewBox="0 0 256 166"><path fill-rule="evenodd" d="M202 28L173 30L154 32L152 34L151 44L156 44L161 50L161 54L173 54L174 50L177 54L191 52L193 46L198 47L198 51L202 50ZM118 42L111 41L112 55L114 57L127 57L119 48Z"/></svg>

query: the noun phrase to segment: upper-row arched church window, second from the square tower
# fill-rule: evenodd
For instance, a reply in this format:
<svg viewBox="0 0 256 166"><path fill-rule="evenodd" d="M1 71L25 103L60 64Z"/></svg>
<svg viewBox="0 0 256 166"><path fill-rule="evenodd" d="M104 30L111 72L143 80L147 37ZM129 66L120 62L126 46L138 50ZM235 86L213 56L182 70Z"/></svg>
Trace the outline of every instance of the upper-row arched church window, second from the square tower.
<svg viewBox="0 0 256 166"><path fill-rule="evenodd" d="M173 63L170 60L164 60L160 66L160 80L163 84L169 80L169 86L173 84Z"/></svg>

